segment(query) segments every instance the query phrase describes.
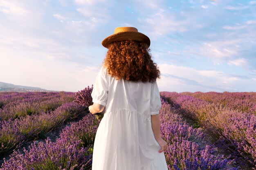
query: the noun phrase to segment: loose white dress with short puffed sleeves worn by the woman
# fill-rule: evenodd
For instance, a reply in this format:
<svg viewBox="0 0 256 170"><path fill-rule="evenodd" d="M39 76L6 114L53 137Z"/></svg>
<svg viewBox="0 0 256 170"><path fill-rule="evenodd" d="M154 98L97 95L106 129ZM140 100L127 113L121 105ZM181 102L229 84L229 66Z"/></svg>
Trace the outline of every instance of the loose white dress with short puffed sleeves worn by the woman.
<svg viewBox="0 0 256 170"><path fill-rule="evenodd" d="M168 170L150 115L161 107L157 83L116 80L102 67L92 102L106 106L96 132L92 170Z"/></svg>

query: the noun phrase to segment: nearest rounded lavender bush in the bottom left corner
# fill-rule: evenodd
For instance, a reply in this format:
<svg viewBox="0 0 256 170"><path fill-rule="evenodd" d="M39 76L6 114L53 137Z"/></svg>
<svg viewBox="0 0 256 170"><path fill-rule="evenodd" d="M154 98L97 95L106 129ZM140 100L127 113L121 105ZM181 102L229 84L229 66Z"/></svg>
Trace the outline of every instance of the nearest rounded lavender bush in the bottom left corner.
<svg viewBox="0 0 256 170"><path fill-rule="evenodd" d="M10 155L10 159L2 164L0 170L90 170L92 153L89 146L81 147L81 140L70 144L59 138L56 142L49 138L45 143L40 141Z"/></svg>

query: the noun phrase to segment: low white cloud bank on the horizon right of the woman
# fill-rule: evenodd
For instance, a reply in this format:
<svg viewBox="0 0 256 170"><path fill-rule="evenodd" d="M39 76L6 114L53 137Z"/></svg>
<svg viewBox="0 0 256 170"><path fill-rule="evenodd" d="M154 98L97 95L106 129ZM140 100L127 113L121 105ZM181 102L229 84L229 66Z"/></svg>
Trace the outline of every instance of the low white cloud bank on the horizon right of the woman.
<svg viewBox="0 0 256 170"><path fill-rule="evenodd" d="M196 70L184 66L159 64L161 79L158 80L160 91L238 91L236 86L244 79L222 71Z"/></svg>

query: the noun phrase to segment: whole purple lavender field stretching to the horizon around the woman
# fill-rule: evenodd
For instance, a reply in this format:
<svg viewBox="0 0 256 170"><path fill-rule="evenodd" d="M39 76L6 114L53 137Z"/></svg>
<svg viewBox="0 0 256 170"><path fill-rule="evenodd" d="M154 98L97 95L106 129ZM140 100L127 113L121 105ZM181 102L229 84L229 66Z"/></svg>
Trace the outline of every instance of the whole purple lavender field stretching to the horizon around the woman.
<svg viewBox="0 0 256 170"><path fill-rule="evenodd" d="M90 170L91 92L0 93L0 170ZM256 170L256 93L160 94L169 170Z"/></svg>

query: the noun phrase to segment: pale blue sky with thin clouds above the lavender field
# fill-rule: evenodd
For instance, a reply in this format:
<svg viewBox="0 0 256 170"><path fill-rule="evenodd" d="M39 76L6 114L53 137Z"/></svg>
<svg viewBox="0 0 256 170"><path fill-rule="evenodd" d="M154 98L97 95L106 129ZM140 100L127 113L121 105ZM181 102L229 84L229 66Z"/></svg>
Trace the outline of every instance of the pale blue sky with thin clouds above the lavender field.
<svg viewBox="0 0 256 170"><path fill-rule="evenodd" d="M0 0L0 82L91 86L118 26L150 38L159 91L256 91L256 0Z"/></svg>

